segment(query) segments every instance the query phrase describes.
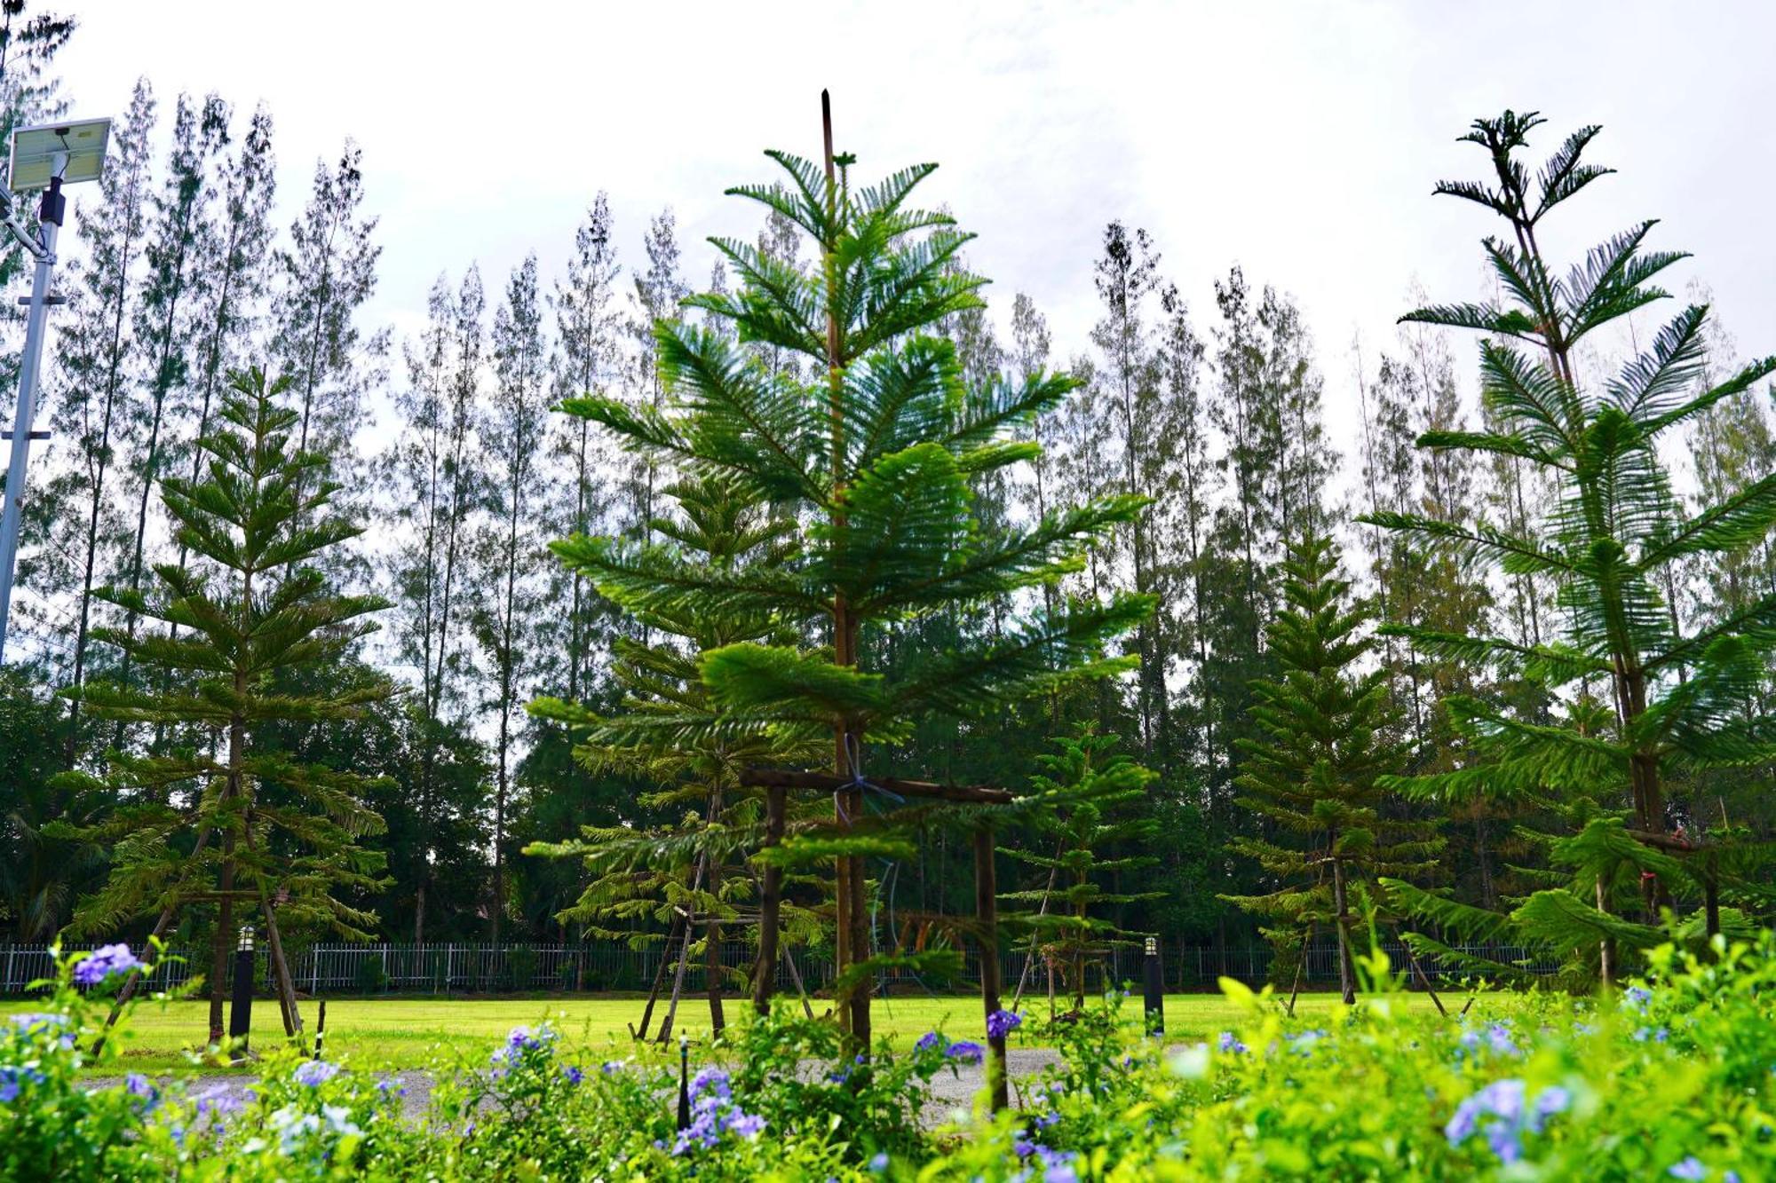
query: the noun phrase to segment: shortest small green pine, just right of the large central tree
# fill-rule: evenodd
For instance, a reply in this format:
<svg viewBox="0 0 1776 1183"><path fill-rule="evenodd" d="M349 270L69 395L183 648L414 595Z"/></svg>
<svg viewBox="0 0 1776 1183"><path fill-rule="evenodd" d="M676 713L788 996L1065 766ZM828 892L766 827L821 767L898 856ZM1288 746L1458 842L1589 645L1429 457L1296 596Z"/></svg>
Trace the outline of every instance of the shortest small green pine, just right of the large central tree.
<svg viewBox="0 0 1776 1183"><path fill-rule="evenodd" d="M1126 755L1115 755L1115 735L1098 735L1090 725L1076 735L1057 735L1058 751L1037 757L1043 771L1032 778L1032 789L1039 803L1028 814L1035 830L1055 840L1055 854L1000 847L1002 854L1050 872L1043 888L1005 892L1000 899L1037 904L1035 913L1027 909L1018 922L1050 938L1043 941L1043 956L1064 966L1074 1014L1085 1011L1087 966L1096 963L1103 989L1112 989L1115 982L1105 966L1110 949L1140 938L1098 913L1162 895L1105 886L1106 876L1119 881L1124 872L1158 861L1151 854L1106 854L1130 844L1138 849L1158 830L1151 812L1122 810L1124 815L1115 817L1117 806L1138 806L1156 776ZM1048 913L1050 904L1058 908Z"/></svg>

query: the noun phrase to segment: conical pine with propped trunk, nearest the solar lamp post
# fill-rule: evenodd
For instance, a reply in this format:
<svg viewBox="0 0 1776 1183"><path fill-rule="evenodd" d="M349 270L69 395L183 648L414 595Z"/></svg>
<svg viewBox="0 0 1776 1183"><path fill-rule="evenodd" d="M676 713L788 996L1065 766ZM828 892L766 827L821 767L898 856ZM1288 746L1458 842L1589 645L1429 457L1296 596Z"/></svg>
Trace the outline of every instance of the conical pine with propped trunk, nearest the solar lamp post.
<svg viewBox="0 0 1776 1183"><path fill-rule="evenodd" d="M295 991L281 929L330 927L368 938L375 917L339 899L377 886L382 856L359 846L382 821L364 806L362 776L304 764L263 742L275 721L330 726L389 695L380 677L323 693L288 693L284 679L346 654L375 629L375 597L336 595L314 567L329 547L359 533L327 515L334 487L325 460L291 448L297 412L279 405L286 380L236 373L220 409L222 428L202 441L201 481L167 476L167 513L181 542L213 574L156 568L158 593L107 590L107 599L186 634L103 631L151 671L151 687L89 682L80 693L98 718L215 728L220 746L162 755L110 753L99 783L119 794L110 819L71 833L115 851L110 881L82 901L76 929L112 931L160 909L156 936L194 899L217 902L210 968L210 1041L222 1039L222 984L234 945L236 902L258 901L272 938L286 1030L295 1034ZM275 785L275 799L268 789ZM179 792L172 792L178 789ZM213 890L199 885L213 881ZM274 915L274 897L277 911Z"/></svg>

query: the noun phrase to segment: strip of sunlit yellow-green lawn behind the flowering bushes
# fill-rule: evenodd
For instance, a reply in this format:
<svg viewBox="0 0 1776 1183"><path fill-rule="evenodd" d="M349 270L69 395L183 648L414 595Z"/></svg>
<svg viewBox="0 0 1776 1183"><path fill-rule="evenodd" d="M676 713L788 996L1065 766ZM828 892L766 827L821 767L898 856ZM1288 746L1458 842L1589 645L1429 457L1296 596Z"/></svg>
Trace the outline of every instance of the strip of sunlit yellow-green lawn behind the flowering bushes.
<svg viewBox="0 0 1776 1183"><path fill-rule="evenodd" d="M790 1005L796 1005L790 1000ZM1025 1012L1046 1012L1046 1000L1027 998ZM1410 995L1412 1007L1430 1009L1430 998ZM334 998L327 1004L327 1059L346 1059L359 1068L426 1068L458 1055L483 1060L510 1032L524 1023L549 1020L570 1048L632 1055L639 1044L629 1039L627 1023L639 1021L639 998ZM4 1002L0 1014L36 1009L28 1002ZM728 998L728 1021L744 1018L746 1000ZM817 1000L815 1012L826 1004ZM1302 995L1296 1016L1312 1021L1330 1018L1336 995ZM655 1007L655 1030L664 1005ZM897 1048L909 1048L924 1032L941 1027L950 1037L980 1039L980 1002L975 996L879 998L872 1009L877 1036L888 1036ZM144 1073L190 1069L188 1052L201 1044L208 1030L208 1002L144 1002L119 1044L123 1068ZM314 1004L302 1005L307 1028L314 1028ZM1124 1016L1133 1028L1140 1021L1140 1000L1130 998ZM254 1036L261 1046L281 1037L277 1004L259 998L252 1009ZM1193 1041L1231 1027L1238 1011L1220 995L1167 995L1167 1037ZM705 1039L709 1002L691 998L678 1007L675 1032ZM1028 1044L1028 1039L1019 1037ZM108 1066L107 1071L117 1071ZM201 1068L199 1071L227 1071Z"/></svg>

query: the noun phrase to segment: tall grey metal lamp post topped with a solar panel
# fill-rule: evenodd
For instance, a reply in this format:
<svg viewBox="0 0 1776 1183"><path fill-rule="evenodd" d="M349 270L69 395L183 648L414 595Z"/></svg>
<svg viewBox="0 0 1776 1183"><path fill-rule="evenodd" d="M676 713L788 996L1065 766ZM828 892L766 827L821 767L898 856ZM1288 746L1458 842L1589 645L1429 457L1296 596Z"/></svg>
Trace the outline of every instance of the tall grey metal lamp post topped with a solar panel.
<svg viewBox="0 0 1776 1183"><path fill-rule="evenodd" d="M18 409L12 414L11 464L5 476L5 510L0 512L0 663L5 661L5 641L12 615L12 572L18 565L18 533L25 520L25 471L30 464L30 441L48 439L48 432L32 430L37 417L37 369L43 359L43 334L48 329L50 306L64 304L50 295L55 272L55 238L67 213L62 185L96 181L105 171L105 146L110 140L110 119L59 123L12 131L12 192L43 190L37 206L37 229L27 229L12 210L11 194L0 194L0 220L12 238L37 261L30 281L30 313L25 318L25 355L18 368Z"/></svg>

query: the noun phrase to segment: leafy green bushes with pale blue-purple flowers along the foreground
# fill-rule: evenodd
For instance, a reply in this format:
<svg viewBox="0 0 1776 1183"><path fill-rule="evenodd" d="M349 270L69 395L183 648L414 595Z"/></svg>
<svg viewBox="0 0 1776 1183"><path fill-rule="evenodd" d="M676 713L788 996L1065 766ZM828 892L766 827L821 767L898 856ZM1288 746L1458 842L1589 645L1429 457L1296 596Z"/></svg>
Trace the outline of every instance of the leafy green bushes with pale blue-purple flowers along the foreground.
<svg viewBox="0 0 1776 1183"><path fill-rule="evenodd" d="M929 1032L904 1055L847 1057L833 1027L790 1014L698 1050L686 1130L677 1064L583 1060L547 1023L440 1069L430 1110L408 1114L398 1082L297 1050L263 1060L245 1100L139 1073L83 1089L119 981L82 986L87 963L60 961L43 1009L0 1025L0 1178L1776 1178L1771 936L1657 950L1650 981L1614 996L1487 996L1449 1018L1384 991L1309 1027L1224 984L1241 1020L1185 1046L1130 1041L1110 995L1035 1032L1060 1062L1014 1082L1012 1112L940 1126L931 1082L979 1043Z"/></svg>

